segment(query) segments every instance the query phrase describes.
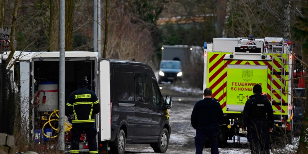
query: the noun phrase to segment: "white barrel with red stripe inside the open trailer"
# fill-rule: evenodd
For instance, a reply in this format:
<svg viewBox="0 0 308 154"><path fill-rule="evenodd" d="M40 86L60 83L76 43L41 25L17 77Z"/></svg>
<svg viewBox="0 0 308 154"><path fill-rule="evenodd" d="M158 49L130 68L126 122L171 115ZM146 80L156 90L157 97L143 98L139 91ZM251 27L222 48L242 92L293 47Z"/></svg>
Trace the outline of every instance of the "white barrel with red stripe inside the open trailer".
<svg viewBox="0 0 308 154"><path fill-rule="evenodd" d="M46 95L45 103L43 103L43 91ZM59 108L59 89L57 82L40 82L38 92L40 92L38 111L54 111L54 109Z"/></svg>

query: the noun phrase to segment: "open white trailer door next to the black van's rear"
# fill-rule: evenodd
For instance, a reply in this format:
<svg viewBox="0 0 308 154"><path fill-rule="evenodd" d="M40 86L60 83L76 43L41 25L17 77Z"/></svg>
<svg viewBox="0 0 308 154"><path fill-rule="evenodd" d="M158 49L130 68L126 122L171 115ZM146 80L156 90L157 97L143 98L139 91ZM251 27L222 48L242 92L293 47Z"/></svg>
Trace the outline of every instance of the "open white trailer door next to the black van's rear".
<svg viewBox="0 0 308 154"><path fill-rule="evenodd" d="M99 60L99 141L110 140L110 60Z"/></svg>

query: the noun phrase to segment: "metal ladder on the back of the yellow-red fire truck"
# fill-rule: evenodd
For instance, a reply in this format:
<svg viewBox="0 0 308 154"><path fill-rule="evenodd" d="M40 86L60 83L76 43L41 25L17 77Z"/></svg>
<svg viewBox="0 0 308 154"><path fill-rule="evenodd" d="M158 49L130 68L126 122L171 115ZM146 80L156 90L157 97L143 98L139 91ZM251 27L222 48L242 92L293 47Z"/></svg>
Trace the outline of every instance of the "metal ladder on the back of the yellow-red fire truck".
<svg viewBox="0 0 308 154"><path fill-rule="evenodd" d="M272 44L272 53L273 53L273 55L272 55L272 63L271 63L271 67L272 67L272 73L271 73L271 75L272 75L272 82L271 82L271 104L272 104L272 106L273 106L273 103L274 103L274 101L276 102L276 103L279 103L279 102L277 102L277 101L280 101L280 110L273 110L273 111L279 111L280 112L280 118L279 118L279 120L275 120L275 122L282 122L282 119L283 119L283 117L282 117L282 97L283 97L283 93L285 92L285 82L286 82L286 59L284 59L283 58L283 53L284 53L284 45L286 44L286 43L283 43L282 44L282 46L281 46L281 44L277 44L277 43L269 43L269 44ZM278 55L280 55L280 57L279 57L279 55L278 55L278 57L274 57L274 49L276 49L276 51L279 51L279 52L277 52L276 54ZM281 67L274 67L274 60L280 60L281 61L281 63L279 62L279 61L277 61L278 63L280 63L281 64ZM280 78L275 78L274 77L274 75L275 74L277 74L277 71L276 70L280 70L281 71L281 75L280 75ZM277 75L279 75L279 74L277 74ZM279 81L277 81L277 83L281 86L279 89L278 89L278 87L277 88L274 88L274 80L279 80ZM273 95L274 95L274 92L276 93L276 92L280 92L280 99L273 99Z"/></svg>

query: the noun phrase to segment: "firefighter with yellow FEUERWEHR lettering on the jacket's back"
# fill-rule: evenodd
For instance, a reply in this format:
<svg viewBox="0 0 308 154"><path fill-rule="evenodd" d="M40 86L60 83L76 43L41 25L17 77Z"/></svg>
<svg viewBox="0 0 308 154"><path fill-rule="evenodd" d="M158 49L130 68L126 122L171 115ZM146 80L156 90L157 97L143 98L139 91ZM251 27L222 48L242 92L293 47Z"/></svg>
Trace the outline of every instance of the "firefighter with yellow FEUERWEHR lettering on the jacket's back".
<svg viewBox="0 0 308 154"><path fill-rule="evenodd" d="M67 114L75 115L75 120L72 120L70 153L79 153L79 139L84 131L89 142L89 152L96 154L98 149L94 116L100 111L99 100L95 93L87 88L85 79L80 79L78 86L78 89L71 93L66 104Z"/></svg>

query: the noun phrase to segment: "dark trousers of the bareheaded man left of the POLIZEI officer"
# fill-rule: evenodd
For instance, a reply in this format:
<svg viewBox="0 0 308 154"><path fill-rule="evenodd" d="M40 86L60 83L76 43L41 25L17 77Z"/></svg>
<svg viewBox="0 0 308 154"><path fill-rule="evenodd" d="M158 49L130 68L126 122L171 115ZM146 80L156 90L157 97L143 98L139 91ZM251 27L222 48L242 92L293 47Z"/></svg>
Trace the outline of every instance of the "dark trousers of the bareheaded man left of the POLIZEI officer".
<svg viewBox="0 0 308 154"><path fill-rule="evenodd" d="M195 137L196 154L202 154L205 140L211 143L211 154L218 154L217 134L209 134L207 131L197 130Z"/></svg>

